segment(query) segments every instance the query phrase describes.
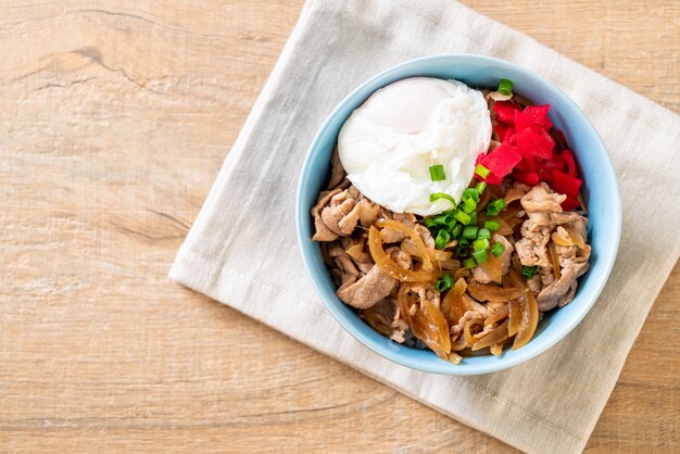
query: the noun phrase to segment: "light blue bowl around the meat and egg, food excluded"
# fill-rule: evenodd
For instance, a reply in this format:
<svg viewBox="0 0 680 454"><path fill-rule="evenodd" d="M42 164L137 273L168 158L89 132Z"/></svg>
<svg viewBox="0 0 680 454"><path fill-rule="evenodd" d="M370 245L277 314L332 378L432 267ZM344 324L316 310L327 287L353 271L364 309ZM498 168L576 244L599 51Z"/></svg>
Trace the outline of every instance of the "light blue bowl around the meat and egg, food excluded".
<svg viewBox="0 0 680 454"><path fill-rule="evenodd" d="M531 341L517 351L506 349L498 357L466 357L461 364L452 365L430 351L390 341L336 297L336 286L324 265L320 248L311 240L314 223L310 211L328 181L330 157L342 124L374 91L414 76L457 79L471 87L487 88L495 88L500 79L508 78L514 83L515 92L536 104L551 105L551 121L565 133L576 154L584 180L583 197L589 207L591 268L581 277L574 301L545 316ZM515 64L482 55L453 54L426 56L399 64L372 77L340 102L307 152L298 186L295 218L302 257L314 287L328 311L354 338L377 354L414 369L446 375L476 375L501 370L544 352L583 319L600 295L614 265L621 232L621 202L607 150L593 125L574 101L547 80Z"/></svg>

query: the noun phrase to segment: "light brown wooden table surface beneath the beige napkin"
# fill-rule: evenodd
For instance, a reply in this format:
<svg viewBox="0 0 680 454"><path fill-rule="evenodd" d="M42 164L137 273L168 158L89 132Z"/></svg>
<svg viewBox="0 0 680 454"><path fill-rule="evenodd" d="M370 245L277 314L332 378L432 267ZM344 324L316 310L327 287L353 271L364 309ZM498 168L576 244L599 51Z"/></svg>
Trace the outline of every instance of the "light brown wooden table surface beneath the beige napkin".
<svg viewBox="0 0 680 454"><path fill-rule="evenodd" d="M468 3L680 111L677 1ZM509 451L167 279L302 0L196 4L0 2L0 451ZM590 452L680 449L679 278Z"/></svg>

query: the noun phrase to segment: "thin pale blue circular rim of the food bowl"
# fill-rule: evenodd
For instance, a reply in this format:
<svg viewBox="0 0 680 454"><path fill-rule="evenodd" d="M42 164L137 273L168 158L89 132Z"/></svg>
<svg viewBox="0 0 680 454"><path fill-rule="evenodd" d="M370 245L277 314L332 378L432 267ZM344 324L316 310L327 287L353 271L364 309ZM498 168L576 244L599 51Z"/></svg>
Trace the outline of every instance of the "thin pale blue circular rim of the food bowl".
<svg viewBox="0 0 680 454"><path fill-rule="evenodd" d="M610 197L613 215L615 216L615 218L612 219L612 226L614 228L614 231L610 232L610 235L612 234L614 235L614 247L612 250L613 252L608 256L600 257L600 260L604 262L603 266L605 268L605 272L604 272L603 278L599 282L595 282L594 289L591 291L590 301L587 301L587 304L584 304L581 307L580 312L577 312L575 314L575 317L568 319L567 323L559 325L559 329L553 330L549 335L549 337L544 339L543 342L534 344L531 348L530 346L531 341L530 341L529 343L527 343L527 345L522 346L521 349L516 350L514 352L514 356L509 358L499 357L498 362L474 364L474 365L466 365L466 364L453 365L443 360L441 362L423 364L413 356L402 355L395 350L390 350L386 348L385 345L377 344L373 339L369 339L366 335L361 332L357 328L355 328L352 325L353 321L349 319L350 317L348 317L347 312L342 312L340 307L336 306L330 301L327 301L326 295L320 291L317 280L322 279L323 276L320 276L320 270L316 269L314 264L312 263L312 260L310 257L311 244L307 243L310 241L310 238L306 238L302 228L303 223L305 223L305 217L310 216L310 213L307 210L302 210L302 204L303 204L302 193L303 193L303 187L306 180L305 175L310 174L315 150L318 150L322 140L324 140L324 137L327 134L327 130L332 126L339 113L342 110L347 109L347 104L354 101L356 97L362 96L362 94L364 94L363 98L365 100L368 96L370 96L373 92L379 89L379 88L376 88L370 91L367 91L368 88L372 87L377 81L379 81L380 79L389 77L392 73L399 73L400 71L404 68L410 68L411 66L418 66L418 65L424 65L424 64L427 65L427 64L442 63L442 62L446 63L448 61L452 61L452 63L454 63L453 62L454 60L465 60L468 63L483 63L483 64L493 65L495 67L500 67L501 70L509 68L512 71L525 73L528 75L529 78L533 78L538 80L540 84L542 84L542 88L546 89L550 92L551 97L562 98L563 101L567 105L569 105L575 112L580 114L580 116L582 117L581 119L583 121L583 125L588 129L590 129L591 136L595 140L595 143L596 143L595 148L599 148L601 151L604 151L603 153L604 162L606 163L606 165L605 165L605 168L601 168L600 172L608 174L606 178L607 180L613 181L613 187L614 187L614 193L608 196ZM461 62L455 62L455 63L459 64ZM421 68L421 71L427 71L427 68ZM400 80L402 78L407 78L407 77L415 77L415 75L400 77L396 80ZM387 84L390 84L390 83L387 83ZM407 61L401 62L396 65L393 65L387 70L379 72L378 74L369 77L368 79L363 81L361 85L358 85L356 88L354 88L348 96L345 96L336 105L336 108L333 108L333 110L324 121L320 128L317 130L305 154L305 159L304 159L304 163L303 163L300 177L298 180L297 193L295 193L295 230L297 230L297 236L298 236L298 245L302 254L302 260L306 268L307 275L311 277L312 283L314 285L314 290L324 302L324 305L326 306L326 308L330 312L333 318L338 321L338 324L340 324L340 326L342 326L342 328L344 328L344 330L348 331L361 344L368 348L369 350L377 353L378 355L382 356L383 358L390 360L393 363L400 364L402 366L406 366L412 369L416 369L416 370L420 370L425 373L431 373L431 374L450 375L450 376L481 375L481 374L489 374L489 373L493 373L498 370L503 370L508 367L513 367L517 364L524 363L545 352L546 350L555 345L557 342L559 342L562 339L564 339L569 332L571 332L574 328L576 328L576 326L578 326L578 324L581 323L581 320L585 317L585 315L591 311L592 306L600 298L600 294L602 293L602 290L604 289L604 286L606 285L612 274L614 262L616 260L616 255L617 255L618 248L620 244L621 223L622 223L621 197L620 197L620 190L619 190L619 185L618 185L618 178L614 169L614 164L612 163L612 159L609 156L609 153L607 152L604 141L602 140L602 137L597 133L597 129L594 127L594 125L592 124L588 115L585 115L585 113L578 106L578 104L576 104L576 102L571 100L569 96L567 96L564 91L562 91L562 89L559 89L553 83L540 76L536 72L529 68L526 68L524 66L520 66L518 64L505 61L505 60L496 59L493 56L474 54L474 53L441 53L441 54L432 54L432 55L426 55L426 56L420 56L417 59L407 60ZM344 303L340 302L340 304L344 304ZM356 317L358 319L358 316L355 314L352 314L352 317Z"/></svg>

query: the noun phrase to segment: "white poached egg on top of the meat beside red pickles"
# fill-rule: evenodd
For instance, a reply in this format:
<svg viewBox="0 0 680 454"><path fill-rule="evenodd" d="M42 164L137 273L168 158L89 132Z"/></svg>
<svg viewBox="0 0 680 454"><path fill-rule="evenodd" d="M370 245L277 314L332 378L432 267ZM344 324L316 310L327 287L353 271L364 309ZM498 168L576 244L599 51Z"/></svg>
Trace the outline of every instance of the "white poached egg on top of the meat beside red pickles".
<svg viewBox="0 0 680 454"><path fill-rule="evenodd" d="M483 94L457 80L413 77L376 91L338 136L348 178L368 199L395 213L430 216L451 210L444 192L461 201L475 162L491 140ZM446 178L432 181L429 167Z"/></svg>

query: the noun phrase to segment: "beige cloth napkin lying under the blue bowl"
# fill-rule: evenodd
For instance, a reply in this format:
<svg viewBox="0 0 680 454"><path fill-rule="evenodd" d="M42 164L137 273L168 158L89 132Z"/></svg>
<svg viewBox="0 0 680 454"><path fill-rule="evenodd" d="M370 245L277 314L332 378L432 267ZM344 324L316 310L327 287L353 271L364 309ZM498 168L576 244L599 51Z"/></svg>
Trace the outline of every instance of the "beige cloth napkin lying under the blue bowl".
<svg viewBox="0 0 680 454"><path fill-rule="evenodd" d="M295 186L326 116L374 74L468 52L528 67L593 121L619 175L624 234L592 312L542 355L495 374L444 377L381 358L326 311L294 230ZM444 0L308 2L229 152L171 276L514 446L583 449L680 253L680 117L533 39Z"/></svg>

